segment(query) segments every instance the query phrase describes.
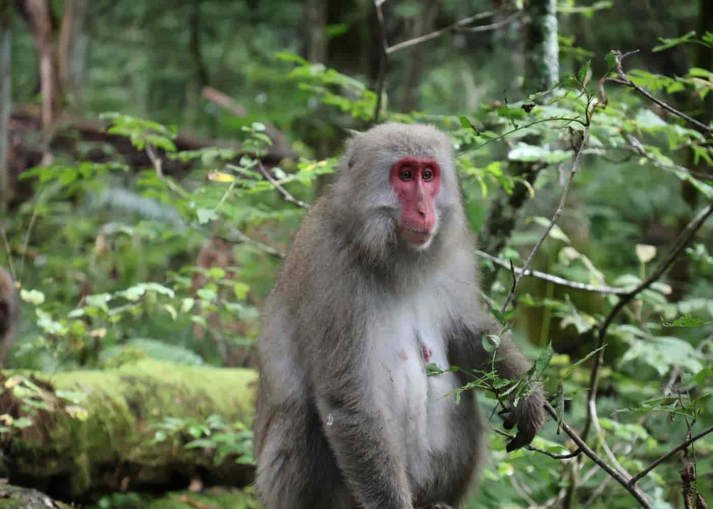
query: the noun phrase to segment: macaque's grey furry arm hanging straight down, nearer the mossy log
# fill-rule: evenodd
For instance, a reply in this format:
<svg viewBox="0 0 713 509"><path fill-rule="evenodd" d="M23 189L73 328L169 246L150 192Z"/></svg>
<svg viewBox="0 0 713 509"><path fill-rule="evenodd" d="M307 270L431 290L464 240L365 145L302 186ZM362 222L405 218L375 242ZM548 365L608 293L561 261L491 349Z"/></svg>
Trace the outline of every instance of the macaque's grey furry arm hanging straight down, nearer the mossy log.
<svg viewBox="0 0 713 509"><path fill-rule="evenodd" d="M317 381L319 416L339 469L360 507L411 509L399 441L390 436L391 426L378 405L366 396L366 366L351 368L356 375Z"/></svg>

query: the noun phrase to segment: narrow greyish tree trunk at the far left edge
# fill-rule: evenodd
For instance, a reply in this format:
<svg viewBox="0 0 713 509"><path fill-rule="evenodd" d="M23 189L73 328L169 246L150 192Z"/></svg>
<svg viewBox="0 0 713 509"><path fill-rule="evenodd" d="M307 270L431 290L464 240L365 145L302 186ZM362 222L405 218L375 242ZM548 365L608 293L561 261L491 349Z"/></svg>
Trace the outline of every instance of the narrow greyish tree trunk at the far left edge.
<svg viewBox="0 0 713 509"><path fill-rule="evenodd" d="M10 196L10 109L12 107L12 58L10 0L0 0L0 212Z"/></svg>

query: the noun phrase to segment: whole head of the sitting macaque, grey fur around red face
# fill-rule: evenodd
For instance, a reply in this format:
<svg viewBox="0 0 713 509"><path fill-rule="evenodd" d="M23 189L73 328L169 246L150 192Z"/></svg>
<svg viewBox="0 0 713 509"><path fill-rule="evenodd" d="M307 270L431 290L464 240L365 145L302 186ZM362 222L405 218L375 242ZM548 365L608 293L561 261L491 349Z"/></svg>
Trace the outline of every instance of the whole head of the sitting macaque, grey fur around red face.
<svg viewBox="0 0 713 509"><path fill-rule="evenodd" d="M386 123L355 133L332 188L339 220L371 261L425 255L462 211L448 137L430 125Z"/></svg>

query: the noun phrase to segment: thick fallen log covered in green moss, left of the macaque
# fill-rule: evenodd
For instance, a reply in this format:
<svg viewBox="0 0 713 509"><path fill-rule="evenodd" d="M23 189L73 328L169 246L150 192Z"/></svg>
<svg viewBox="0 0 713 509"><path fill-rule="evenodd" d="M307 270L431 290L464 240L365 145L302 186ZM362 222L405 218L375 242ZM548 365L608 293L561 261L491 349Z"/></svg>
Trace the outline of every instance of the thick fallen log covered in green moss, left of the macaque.
<svg viewBox="0 0 713 509"><path fill-rule="evenodd" d="M0 416L32 421L0 433L0 477L10 483L91 501L118 491L181 489L195 480L229 486L252 480L254 468L237 463L235 454L218 462L210 446L185 448L195 438L188 432L155 437L166 418L202 423L217 415L250 426L253 370L142 359L101 371L3 371L0 383Z"/></svg>

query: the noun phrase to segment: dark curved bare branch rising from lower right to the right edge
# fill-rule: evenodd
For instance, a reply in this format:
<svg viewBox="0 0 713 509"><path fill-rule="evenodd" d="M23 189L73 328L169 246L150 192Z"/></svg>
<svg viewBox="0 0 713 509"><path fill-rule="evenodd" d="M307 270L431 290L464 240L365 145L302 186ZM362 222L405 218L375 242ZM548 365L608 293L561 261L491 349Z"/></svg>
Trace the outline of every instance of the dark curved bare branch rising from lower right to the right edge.
<svg viewBox="0 0 713 509"><path fill-rule="evenodd" d="M711 215L711 212L713 212L713 204L708 205L707 207L704 207L696 217L694 217L687 225L684 227L683 231L680 233L680 235L677 237L676 241L674 242L673 247L671 250L668 252L668 255L666 255L665 259L663 259L657 267L654 269L654 271L651 273L651 275L639 286L637 286L635 289L632 289L630 292L628 292L625 295L621 295L619 297L619 300L617 303L614 305L612 310L607 314L607 317L604 319L604 322L600 325L598 331L597 331L597 346L596 348L601 348L602 344L604 344L604 339L605 336L607 335L607 329L609 328L610 324L614 321L614 319L617 317L617 314L627 305L629 302L631 302L634 297L637 296L637 294L640 294L640 292L643 292L645 289L650 287L654 282L656 282L666 271L667 269L671 266L671 264L677 259L678 255L680 252L682 252L683 248L688 244L689 240L695 235L695 233L699 230L699 228L703 225L703 223L707 220L709 215ZM585 332L584 334L588 334L589 331ZM597 418L597 407L595 404L595 399L597 397L597 386L599 384L599 370L600 367L602 366L602 363L604 361L604 351L600 350L597 356L595 357L594 364L592 366L592 372L590 374L590 388L588 391L587 395L587 420L585 421L585 426L582 431L582 436L584 438L587 437L589 433L590 426L592 424L592 421Z"/></svg>

